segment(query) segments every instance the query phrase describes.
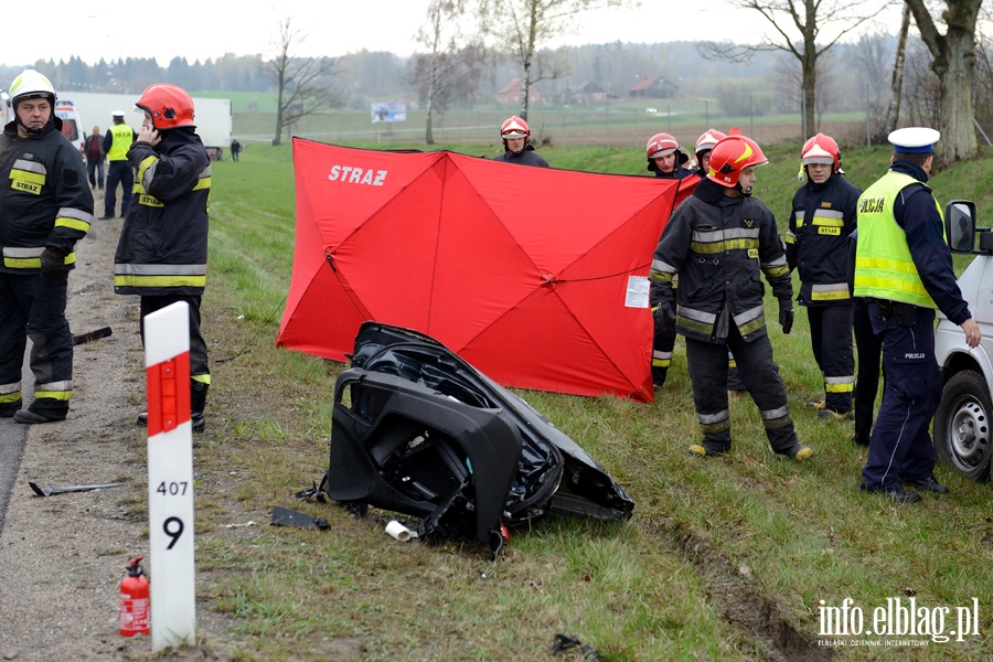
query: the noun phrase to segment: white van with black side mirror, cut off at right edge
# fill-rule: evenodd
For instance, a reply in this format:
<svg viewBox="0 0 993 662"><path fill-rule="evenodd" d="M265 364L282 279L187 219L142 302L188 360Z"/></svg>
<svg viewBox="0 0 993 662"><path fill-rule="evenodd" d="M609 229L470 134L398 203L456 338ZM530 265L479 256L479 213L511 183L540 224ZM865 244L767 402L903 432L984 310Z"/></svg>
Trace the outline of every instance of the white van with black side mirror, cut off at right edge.
<svg viewBox="0 0 993 662"><path fill-rule="evenodd" d="M993 479L993 229L975 226L975 204L946 206L944 229L952 253L975 257L959 278L962 296L982 331L974 350L962 329L939 314L935 357L944 386L935 414L938 456L974 480Z"/></svg>

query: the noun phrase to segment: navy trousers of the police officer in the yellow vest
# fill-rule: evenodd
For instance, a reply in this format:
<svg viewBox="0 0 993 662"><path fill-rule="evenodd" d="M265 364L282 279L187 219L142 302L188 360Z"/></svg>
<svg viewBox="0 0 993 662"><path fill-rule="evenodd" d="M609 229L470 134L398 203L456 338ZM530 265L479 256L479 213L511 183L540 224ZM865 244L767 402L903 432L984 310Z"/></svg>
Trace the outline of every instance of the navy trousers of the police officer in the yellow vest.
<svg viewBox="0 0 993 662"><path fill-rule="evenodd" d="M904 306L912 320L882 312L876 301L868 307L873 329L883 339L886 374L883 404L862 470L862 483L869 491L893 490L900 481L927 480L935 472L930 426L941 401L935 311Z"/></svg>

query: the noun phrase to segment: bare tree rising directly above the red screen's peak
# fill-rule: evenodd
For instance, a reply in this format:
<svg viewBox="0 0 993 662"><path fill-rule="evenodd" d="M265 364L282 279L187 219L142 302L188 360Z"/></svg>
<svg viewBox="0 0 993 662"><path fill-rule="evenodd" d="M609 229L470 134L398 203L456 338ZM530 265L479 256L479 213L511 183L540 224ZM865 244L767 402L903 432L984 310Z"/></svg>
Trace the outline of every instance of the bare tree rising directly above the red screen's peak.
<svg viewBox="0 0 993 662"><path fill-rule="evenodd" d="M479 35L465 35L471 0L431 0L427 23L417 41L427 53L412 58L412 81L426 110L424 140L435 143L434 115L458 98L471 98L479 89L485 50Z"/></svg>

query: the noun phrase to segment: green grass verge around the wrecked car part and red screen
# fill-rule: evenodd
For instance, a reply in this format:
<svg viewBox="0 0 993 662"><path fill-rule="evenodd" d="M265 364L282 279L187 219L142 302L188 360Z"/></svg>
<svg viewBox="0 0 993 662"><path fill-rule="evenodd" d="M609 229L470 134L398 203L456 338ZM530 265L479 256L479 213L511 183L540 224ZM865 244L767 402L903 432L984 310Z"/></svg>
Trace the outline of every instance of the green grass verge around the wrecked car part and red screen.
<svg viewBox="0 0 993 662"><path fill-rule="evenodd" d="M769 146L771 164L759 171L757 195L781 225L798 149ZM560 168L644 173L640 149L543 153ZM864 188L885 171L888 153L845 147L844 163ZM989 218L987 172L993 160L983 159L932 184L942 201L972 197ZM864 453L850 440L851 424L825 424L804 406L822 385L802 312L790 335L770 335L798 433L818 452L809 462L771 453L748 398L732 402L728 457L688 457L698 431L680 343L651 405L522 394L623 484L637 504L628 522L549 517L513 531L490 562L472 542L396 543L383 534L387 513L356 520L293 500L327 468L344 366L275 348L292 270L289 145L253 145L239 163L216 163L213 186L204 330L214 377L207 433L195 449L197 590L201 610L231 617L231 659L578 660L549 656L557 633L611 661L820 659L820 600L840 606L851 597L871 612L911 594L928 607L975 596L983 637L925 649L839 648L836 656L993 654L990 485L939 467L950 495L898 508L859 494ZM276 504L327 519L330 530L264 525ZM225 526L248 520L263 525Z"/></svg>

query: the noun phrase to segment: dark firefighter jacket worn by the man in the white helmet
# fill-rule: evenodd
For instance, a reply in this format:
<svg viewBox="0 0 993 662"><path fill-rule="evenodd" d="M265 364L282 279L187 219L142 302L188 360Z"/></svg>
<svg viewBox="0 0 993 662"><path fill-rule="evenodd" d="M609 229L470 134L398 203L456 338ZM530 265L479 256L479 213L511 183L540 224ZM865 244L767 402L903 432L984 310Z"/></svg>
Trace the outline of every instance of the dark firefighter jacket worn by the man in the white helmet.
<svg viewBox="0 0 993 662"><path fill-rule="evenodd" d="M46 247L64 254L72 269L76 242L93 221L83 157L57 117L29 138L18 136L15 121L0 135L0 271L38 274Z"/></svg>

